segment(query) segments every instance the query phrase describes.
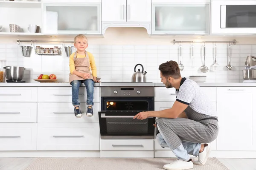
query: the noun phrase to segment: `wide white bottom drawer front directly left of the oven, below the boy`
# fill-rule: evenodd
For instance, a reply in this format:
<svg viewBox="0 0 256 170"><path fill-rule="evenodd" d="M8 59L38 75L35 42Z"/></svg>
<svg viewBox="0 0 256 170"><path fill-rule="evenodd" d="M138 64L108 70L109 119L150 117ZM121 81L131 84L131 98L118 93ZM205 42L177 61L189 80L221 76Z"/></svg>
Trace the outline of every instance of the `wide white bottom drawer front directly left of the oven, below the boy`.
<svg viewBox="0 0 256 170"><path fill-rule="evenodd" d="M99 123L38 123L38 150L99 150Z"/></svg>

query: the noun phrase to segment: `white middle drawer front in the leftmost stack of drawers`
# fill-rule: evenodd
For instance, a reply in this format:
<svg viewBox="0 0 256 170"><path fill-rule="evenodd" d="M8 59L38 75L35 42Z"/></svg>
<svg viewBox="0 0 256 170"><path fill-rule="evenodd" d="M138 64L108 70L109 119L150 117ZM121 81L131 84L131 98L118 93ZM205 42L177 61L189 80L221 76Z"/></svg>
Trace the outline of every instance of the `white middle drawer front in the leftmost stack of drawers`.
<svg viewBox="0 0 256 170"><path fill-rule="evenodd" d="M37 105L33 103L0 102L1 123L36 123Z"/></svg>

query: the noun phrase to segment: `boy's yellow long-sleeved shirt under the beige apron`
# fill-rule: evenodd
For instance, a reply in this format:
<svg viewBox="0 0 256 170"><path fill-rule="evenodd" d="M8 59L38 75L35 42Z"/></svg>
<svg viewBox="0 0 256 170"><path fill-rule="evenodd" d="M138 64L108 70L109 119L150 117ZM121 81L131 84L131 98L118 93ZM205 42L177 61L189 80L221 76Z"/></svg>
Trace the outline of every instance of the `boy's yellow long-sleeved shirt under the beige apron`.
<svg viewBox="0 0 256 170"><path fill-rule="evenodd" d="M96 65L95 65L95 60L94 60L93 54L91 54L88 51L87 51L87 54L88 54L89 63L90 63L89 69L92 70L93 77L97 77L97 68L96 68ZM70 55L70 73L71 74L73 74L73 71L75 70L74 55L75 55L75 53ZM77 54L76 57L77 58L84 58L85 55Z"/></svg>

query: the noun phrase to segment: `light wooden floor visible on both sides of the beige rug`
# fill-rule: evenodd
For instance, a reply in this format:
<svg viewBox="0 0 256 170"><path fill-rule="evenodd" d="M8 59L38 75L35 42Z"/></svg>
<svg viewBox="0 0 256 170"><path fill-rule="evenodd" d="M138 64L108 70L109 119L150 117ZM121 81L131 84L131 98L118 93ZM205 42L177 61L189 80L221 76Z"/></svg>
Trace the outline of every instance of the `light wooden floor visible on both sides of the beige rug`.
<svg viewBox="0 0 256 170"><path fill-rule="evenodd" d="M0 170L23 170L35 158L0 158ZM219 158L230 170L256 170L256 159Z"/></svg>

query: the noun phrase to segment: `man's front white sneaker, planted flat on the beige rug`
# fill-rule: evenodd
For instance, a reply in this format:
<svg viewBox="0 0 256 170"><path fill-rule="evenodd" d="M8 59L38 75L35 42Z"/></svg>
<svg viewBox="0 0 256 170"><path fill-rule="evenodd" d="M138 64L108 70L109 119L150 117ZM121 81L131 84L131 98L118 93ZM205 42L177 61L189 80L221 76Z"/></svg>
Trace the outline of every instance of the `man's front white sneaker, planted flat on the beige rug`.
<svg viewBox="0 0 256 170"><path fill-rule="evenodd" d="M189 159L189 161L183 161L181 159L177 159L171 164L164 165L163 168L166 170L187 170L187 169L193 168L193 162L192 162L192 159Z"/></svg>

